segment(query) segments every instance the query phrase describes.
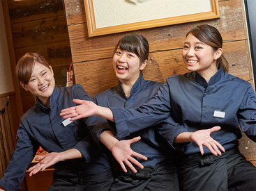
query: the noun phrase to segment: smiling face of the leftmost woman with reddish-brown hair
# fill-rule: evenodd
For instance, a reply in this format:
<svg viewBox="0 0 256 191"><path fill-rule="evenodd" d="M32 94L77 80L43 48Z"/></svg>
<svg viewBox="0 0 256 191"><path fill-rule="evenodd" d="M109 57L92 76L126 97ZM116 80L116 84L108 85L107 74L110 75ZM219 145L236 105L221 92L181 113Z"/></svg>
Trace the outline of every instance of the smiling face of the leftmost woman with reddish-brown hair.
<svg viewBox="0 0 256 191"><path fill-rule="evenodd" d="M40 99L44 106L48 107L50 96L55 87L52 67L46 67L38 62L33 66L33 72L28 84L20 83L24 90L31 92Z"/></svg>

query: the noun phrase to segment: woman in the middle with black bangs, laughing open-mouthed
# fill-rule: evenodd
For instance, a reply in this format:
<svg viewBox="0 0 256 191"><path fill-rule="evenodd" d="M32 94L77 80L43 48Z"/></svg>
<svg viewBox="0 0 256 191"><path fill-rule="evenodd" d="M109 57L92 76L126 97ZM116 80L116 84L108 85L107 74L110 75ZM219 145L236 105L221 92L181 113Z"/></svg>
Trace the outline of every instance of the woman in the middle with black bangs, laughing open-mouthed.
<svg viewBox="0 0 256 191"><path fill-rule="evenodd" d="M137 108L153 97L162 83L144 80L142 70L146 67L148 56L149 43L146 38L137 34L123 36L116 44L112 58L119 85L97 94L93 98L94 103L104 107ZM96 142L103 142L121 165L114 161L116 178L111 190L179 190L175 154L158 134L157 128L161 125L128 133L118 139L103 117L89 117L87 126ZM125 149L127 145L131 149ZM126 165L120 158L123 155L130 156L124 162ZM138 167L133 167L131 163ZM128 170L126 167L129 167Z"/></svg>

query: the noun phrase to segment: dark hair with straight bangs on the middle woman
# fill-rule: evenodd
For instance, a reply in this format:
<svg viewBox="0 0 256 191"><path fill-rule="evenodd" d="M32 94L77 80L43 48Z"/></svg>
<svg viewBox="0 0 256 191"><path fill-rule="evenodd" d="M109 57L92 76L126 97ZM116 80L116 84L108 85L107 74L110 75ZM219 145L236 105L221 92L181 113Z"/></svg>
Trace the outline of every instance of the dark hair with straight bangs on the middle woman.
<svg viewBox="0 0 256 191"><path fill-rule="evenodd" d="M116 44L114 53L116 53L116 49L118 48L121 50L126 50L135 53L142 62L147 60L149 57L149 42L142 35L124 35L123 38L121 38L119 42Z"/></svg>

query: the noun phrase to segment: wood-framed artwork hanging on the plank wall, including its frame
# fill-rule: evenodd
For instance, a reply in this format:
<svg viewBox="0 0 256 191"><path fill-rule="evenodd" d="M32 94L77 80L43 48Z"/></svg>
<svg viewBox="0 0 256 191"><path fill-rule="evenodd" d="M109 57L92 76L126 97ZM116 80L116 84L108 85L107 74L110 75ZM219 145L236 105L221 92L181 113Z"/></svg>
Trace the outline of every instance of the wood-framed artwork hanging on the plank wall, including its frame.
<svg viewBox="0 0 256 191"><path fill-rule="evenodd" d="M218 0L84 0L89 37L220 17Z"/></svg>

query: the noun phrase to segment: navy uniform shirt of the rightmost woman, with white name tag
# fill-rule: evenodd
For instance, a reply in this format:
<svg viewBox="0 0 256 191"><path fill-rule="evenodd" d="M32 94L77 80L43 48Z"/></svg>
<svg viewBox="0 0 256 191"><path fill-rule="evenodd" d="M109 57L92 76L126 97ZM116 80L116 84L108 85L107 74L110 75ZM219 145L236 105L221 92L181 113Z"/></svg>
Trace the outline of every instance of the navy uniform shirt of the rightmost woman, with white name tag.
<svg viewBox="0 0 256 191"><path fill-rule="evenodd" d="M218 69L207 83L197 72L170 76L155 97L137 110L111 108L116 131L124 135L136 128L158 124L172 116L177 123L162 129L173 146L176 135L184 131L220 126L211 137L228 150L237 147L241 130L256 140L256 96L250 83ZM137 129L138 130L138 129ZM183 144L186 155L199 153L195 142ZM204 148L204 153L210 153Z"/></svg>

